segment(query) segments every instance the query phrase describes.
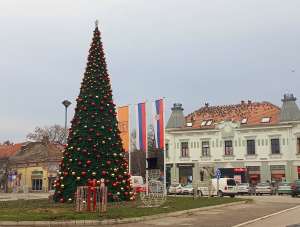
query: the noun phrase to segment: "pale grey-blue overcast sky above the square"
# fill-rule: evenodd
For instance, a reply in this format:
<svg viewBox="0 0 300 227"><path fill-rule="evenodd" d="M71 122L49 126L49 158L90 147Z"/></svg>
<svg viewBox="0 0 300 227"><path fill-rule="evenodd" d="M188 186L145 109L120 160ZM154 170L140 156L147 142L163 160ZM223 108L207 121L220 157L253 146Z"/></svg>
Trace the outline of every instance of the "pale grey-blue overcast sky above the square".
<svg viewBox="0 0 300 227"><path fill-rule="evenodd" d="M0 0L0 142L63 125L66 98L71 120L96 19L117 105L300 98L299 12L299 0Z"/></svg>

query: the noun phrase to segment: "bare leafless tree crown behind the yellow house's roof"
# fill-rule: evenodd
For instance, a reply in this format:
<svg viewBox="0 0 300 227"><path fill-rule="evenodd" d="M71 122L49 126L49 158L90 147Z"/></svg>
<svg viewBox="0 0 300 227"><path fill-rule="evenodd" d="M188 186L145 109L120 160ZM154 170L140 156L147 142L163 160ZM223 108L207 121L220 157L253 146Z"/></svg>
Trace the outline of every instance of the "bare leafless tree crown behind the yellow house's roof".
<svg viewBox="0 0 300 227"><path fill-rule="evenodd" d="M34 132L26 136L27 139L47 143L63 144L65 141L65 129L60 125L36 127Z"/></svg>

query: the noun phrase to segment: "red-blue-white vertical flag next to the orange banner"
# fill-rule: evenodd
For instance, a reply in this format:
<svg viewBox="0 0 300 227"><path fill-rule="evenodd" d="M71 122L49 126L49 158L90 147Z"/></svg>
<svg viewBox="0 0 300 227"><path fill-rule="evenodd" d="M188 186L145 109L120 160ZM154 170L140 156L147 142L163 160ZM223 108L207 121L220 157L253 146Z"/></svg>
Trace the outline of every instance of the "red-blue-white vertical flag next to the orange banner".
<svg viewBox="0 0 300 227"><path fill-rule="evenodd" d="M147 149L147 121L146 121L146 103L136 105L136 148L141 151Z"/></svg>

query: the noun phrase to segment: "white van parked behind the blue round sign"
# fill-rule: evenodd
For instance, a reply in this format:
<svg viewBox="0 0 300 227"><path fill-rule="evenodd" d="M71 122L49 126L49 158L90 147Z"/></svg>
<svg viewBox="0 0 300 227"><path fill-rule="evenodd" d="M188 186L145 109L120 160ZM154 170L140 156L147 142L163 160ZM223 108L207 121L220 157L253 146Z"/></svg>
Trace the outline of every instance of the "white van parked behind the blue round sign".
<svg viewBox="0 0 300 227"><path fill-rule="evenodd" d="M220 178L219 190L218 180L216 178L211 179L211 182L206 182L203 185L199 185L198 194L200 196L230 196L234 197L238 194L237 184L233 178Z"/></svg>

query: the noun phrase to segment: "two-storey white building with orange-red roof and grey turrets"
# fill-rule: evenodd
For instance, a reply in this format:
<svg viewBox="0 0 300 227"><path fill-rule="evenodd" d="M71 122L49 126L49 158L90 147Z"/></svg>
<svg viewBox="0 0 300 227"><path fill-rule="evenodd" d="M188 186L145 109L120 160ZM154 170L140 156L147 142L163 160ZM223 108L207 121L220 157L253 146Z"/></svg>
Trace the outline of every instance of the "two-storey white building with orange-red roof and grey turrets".
<svg viewBox="0 0 300 227"><path fill-rule="evenodd" d="M293 95L282 102L281 108L205 104L186 117L174 104L166 127L167 181L203 181L216 168L242 182L299 179L300 111Z"/></svg>

